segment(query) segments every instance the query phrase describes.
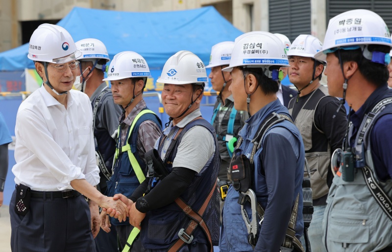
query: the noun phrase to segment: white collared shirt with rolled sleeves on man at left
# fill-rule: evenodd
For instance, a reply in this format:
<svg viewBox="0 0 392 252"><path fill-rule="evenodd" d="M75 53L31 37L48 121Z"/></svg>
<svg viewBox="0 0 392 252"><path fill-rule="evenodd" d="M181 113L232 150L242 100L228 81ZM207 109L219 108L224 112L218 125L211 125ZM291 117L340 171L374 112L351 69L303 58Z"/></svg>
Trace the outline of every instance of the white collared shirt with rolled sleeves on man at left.
<svg viewBox="0 0 392 252"><path fill-rule="evenodd" d="M15 183L32 190L73 189L74 179L99 183L88 96L71 90L67 109L44 85L22 102L15 125Z"/></svg>

